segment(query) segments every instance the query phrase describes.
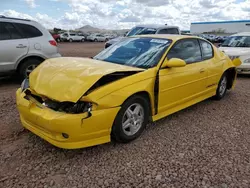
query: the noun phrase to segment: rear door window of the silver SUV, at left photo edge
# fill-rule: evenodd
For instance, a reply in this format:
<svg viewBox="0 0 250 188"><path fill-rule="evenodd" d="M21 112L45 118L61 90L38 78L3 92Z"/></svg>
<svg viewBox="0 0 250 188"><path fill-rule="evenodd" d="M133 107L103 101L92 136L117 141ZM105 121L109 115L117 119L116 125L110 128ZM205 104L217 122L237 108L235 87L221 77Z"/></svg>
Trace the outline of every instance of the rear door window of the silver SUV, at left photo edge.
<svg viewBox="0 0 250 188"><path fill-rule="evenodd" d="M12 23L0 22L0 40L21 39L22 35Z"/></svg>

